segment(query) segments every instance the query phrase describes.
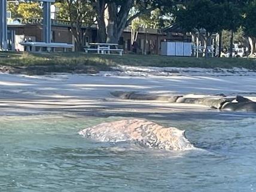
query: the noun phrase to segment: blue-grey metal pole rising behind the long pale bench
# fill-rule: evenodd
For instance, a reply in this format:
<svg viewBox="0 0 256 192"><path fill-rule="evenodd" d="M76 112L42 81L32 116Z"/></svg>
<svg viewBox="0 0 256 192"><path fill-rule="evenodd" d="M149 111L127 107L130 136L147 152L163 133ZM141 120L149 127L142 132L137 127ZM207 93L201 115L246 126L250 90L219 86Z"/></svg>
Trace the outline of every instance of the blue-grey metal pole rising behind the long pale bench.
<svg viewBox="0 0 256 192"><path fill-rule="evenodd" d="M44 19L42 27L42 41L51 42L51 2L43 2Z"/></svg>

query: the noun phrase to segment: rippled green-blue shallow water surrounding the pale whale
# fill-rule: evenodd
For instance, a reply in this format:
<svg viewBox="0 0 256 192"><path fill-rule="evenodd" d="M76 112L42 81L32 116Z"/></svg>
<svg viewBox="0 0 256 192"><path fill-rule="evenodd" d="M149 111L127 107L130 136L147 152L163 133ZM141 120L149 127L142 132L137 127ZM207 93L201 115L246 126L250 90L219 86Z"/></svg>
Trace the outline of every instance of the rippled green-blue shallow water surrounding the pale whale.
<svg viewBox="0 0 256 192"><path fill-rule="evenodd" d="M161 121L203 150L103 144L77 132L120 118L0 118L0 191L253 191L256 118Z"/></svg>

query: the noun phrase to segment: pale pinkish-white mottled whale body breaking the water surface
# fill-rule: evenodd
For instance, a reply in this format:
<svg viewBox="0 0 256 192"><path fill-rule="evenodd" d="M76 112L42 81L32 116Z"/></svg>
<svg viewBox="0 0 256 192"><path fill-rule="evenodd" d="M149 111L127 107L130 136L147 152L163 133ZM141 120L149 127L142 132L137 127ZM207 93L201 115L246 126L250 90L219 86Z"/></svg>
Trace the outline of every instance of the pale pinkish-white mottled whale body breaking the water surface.
<svg viewBox="0 0 256 192"><path fill-rule="evenodd" d="M142 147L164 150L194 149L193 145L185 137L185 131L175 127L163 127L143 119L102 123L84 129L79 134L100 142L126 141Z"/></svg>

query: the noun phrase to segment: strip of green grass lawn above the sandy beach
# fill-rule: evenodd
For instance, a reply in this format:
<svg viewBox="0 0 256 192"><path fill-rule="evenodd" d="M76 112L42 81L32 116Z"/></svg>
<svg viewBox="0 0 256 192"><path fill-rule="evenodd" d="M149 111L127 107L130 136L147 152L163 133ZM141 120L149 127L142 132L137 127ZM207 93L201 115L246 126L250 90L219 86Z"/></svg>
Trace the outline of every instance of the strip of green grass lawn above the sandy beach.
<svg viewBox="0 0 256 192"><path fill-rule="evenodd" d="M246 68L256 71L256 59L194 58L142 55L98 55L86 53L15 53L0 52L0 70L12 73L47 72L96 73L111 71L111 66L159 66L197 68Z"/></svg>

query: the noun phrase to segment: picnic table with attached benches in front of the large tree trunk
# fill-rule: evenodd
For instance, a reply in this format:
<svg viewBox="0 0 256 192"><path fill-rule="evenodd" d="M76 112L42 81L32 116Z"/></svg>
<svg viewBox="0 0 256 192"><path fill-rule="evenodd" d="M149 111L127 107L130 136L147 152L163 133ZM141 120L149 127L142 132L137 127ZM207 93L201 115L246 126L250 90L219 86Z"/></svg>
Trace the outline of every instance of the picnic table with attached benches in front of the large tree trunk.
<svg viewBox="0 0 256 192"><path fill-rule="evenodd" d="M90 43L90 46L97 46L97 48L84 48L86 53L88 51L97 51L97 54L110 54L111 51L116 51L121 56L123 54L123 49L117 48L118 44L115 43ZM111 48L111 46L115 46L115 48Z"/></svg>

